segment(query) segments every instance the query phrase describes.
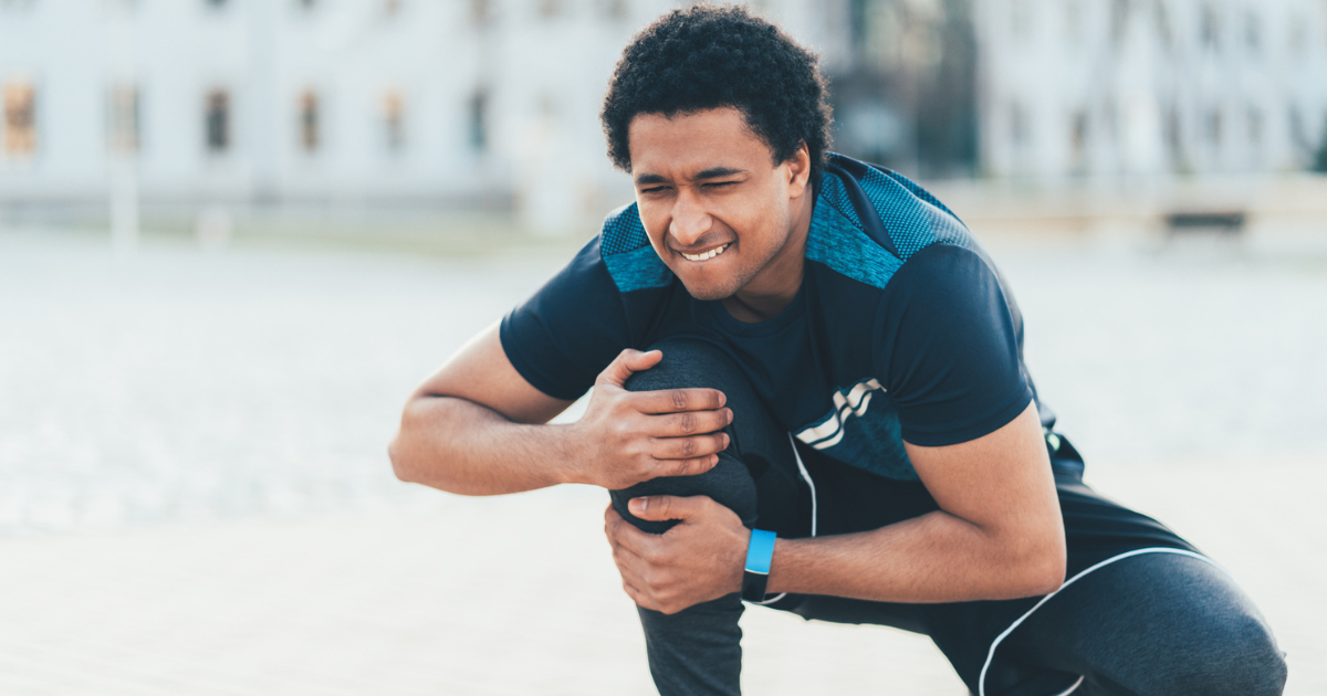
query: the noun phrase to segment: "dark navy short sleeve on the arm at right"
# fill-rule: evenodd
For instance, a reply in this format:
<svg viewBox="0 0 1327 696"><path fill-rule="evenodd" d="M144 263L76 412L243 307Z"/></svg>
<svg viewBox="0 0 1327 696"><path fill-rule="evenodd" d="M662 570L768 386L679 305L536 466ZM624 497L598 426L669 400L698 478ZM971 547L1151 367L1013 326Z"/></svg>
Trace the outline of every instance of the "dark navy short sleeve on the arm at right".
<svg viewBox="0 0 1327 696"><path fill-rule="evenodd" d="M940 447L975 440L1032 399L1019 334L994 269L977 252L933 244L885 286L876 317L876 374L902 439Z"/></svg>

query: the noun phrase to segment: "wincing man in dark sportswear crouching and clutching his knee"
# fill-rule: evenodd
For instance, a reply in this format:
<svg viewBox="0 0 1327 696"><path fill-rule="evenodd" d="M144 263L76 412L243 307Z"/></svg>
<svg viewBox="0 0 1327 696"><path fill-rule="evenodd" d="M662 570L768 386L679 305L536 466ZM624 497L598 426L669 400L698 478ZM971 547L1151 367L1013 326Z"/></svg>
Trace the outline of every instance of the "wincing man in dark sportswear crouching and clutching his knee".
<svg viewBox="0 0 1327 696"><path fill-rule="evenodd" d="M602 121L636 203L411 398L401 479L612 491L665 695L739 692L743 599L925 632L983 696L1281 693L1230 578L1083 485L962 223L827 154L813 56L742 9L675 11Z"/></svg>

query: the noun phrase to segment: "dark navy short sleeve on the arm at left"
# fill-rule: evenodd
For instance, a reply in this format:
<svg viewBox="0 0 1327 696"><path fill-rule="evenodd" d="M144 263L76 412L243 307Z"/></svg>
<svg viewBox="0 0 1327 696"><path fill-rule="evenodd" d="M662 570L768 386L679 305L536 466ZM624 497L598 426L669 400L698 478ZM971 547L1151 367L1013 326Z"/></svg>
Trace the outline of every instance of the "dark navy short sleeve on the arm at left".
<svg viewBox="0 0 1327 696"><path fill-rule="evenodd" d="M527 382L555 399L579 399L598 373L630 345L621 293L600 257L598 237L499 329L507 359Z"/></svg>

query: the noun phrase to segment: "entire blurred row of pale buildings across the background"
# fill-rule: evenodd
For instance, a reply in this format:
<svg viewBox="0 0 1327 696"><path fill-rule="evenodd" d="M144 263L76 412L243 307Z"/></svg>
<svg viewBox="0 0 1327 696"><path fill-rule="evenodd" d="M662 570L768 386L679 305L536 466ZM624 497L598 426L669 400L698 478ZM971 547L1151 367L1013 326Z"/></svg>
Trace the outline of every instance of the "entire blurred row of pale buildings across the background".
<svg viewBox="0 0 1327 696"><path fill-rule="evenodd" d="M630 195L598 107L678 0L0 0L0 212L490 207ZM836 148L922 178L1327 168L1322 0L764 0ZM127 182L127 183L126 183ZM126 194L127 192L127 194Z"/></svg>

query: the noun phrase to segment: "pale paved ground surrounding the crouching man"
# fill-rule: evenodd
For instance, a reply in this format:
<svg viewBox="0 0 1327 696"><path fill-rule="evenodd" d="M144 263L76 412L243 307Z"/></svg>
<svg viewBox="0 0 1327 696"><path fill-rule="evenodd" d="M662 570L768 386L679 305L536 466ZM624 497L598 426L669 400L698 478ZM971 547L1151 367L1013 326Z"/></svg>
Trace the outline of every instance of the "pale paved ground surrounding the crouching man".
<svg viewBox="0 0 1327 696"><path fill-rule="evenodd" d="M997 249L1089 480L1222 561L1327 693L1327 268ZM0 693L650 693L602 497L413 491L399 402L557 260L0 235ZM750 693L962 693L752 610Z"/></svg>

